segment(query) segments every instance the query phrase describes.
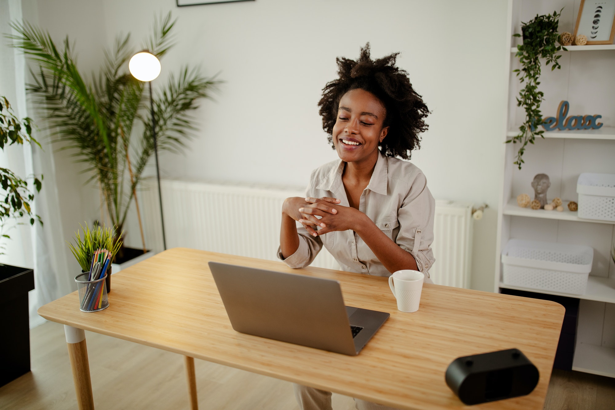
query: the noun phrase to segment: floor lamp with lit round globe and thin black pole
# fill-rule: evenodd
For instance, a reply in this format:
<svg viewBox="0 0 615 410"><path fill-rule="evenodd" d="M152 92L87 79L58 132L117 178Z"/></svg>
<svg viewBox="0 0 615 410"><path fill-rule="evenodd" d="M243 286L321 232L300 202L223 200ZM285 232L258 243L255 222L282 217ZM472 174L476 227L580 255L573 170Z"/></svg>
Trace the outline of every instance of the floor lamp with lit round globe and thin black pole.
<svg viewBox="0 0 615 410"><path fill-rule="evenodd" d="M156 177L158 179L158 199L160 201L160 220L162 222L162 244L167 250L167 238L164 235L164 217L162 216L162 190L160 188L160 168L158 166L158 145L156 142L156 117L154 117L154 97L152 81L160 74L161 65L155 55L141 51L133 55L128 63L130 74L139 81L149 82L149 108L152 116L152 137L154 139L154 154L156 155Z"/></svg>

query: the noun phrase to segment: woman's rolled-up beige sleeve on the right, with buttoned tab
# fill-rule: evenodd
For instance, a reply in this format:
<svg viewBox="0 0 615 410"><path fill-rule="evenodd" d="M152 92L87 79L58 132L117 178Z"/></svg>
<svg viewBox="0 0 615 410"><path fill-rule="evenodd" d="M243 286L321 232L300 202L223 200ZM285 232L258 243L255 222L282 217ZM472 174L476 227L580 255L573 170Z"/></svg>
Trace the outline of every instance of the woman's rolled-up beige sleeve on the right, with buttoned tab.
<svg viewBox="0 0 615 410"><path fill-rule="evenodd" d="M429 277L429 268L434 265L435 199L427 188L427 179L422 172L411 182L410 190L397 212L399 233L396 243L415 257L418 270Z"/></svg>

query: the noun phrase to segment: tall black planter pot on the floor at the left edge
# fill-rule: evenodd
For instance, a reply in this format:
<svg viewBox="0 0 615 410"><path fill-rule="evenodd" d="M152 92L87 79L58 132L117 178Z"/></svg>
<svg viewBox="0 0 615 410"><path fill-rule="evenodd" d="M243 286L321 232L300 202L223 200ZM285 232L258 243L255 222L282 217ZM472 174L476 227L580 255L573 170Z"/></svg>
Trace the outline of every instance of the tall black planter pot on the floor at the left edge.
<svg viewBox="0 0 615 410"><path fill-rule="evenodd" d="M28 291L34 271L0 263L0 386L30 371Z"/></svg>

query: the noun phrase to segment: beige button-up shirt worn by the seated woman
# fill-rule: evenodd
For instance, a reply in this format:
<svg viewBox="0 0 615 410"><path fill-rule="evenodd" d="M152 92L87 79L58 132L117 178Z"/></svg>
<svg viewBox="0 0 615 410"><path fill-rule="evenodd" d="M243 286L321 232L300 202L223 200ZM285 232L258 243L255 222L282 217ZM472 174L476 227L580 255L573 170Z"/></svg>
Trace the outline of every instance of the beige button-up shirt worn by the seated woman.
<svg viewBox="0 0 615 410"><path fill-rule="evenodd" d="M344 163L341 159L325 164L312 172L306 197L337 198L349 206L342 182ZM434 264L431 244L434 241L434 197L427 188L427 179L418 167L382 153L376 161L370 183L363 190L359 211L367 215L389 238L416 259L418 269L429 280ZM297 222L299 247L286 259L278 249L279 259L291 268L308 266L324 245L345 271L376 276L391 276L370 247L352 230L333 231L322 236L309 235Z"/></svg>

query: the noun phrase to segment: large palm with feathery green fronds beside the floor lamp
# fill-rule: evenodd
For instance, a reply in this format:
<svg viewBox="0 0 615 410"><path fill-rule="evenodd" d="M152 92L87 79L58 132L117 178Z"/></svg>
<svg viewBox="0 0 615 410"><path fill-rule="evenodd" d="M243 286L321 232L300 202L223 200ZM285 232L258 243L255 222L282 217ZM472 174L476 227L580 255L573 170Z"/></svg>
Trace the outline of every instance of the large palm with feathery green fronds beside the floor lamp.
<svg viewBox="0 0 615 410"><path fill-rule="evenodd" d="M17 32L9 36L13 46L38 64L28 92L36 107L42 108L55 139L66 142L77 160L88 165L89 182L101 191L101 211L106 209L116 233L124 230L133 200L142 226L136 192L154 153L154 130L144 101L148 94L144 95L145 84L129 73L127 62L143 48L164 57L173 46L174 25L170 13L157 18L153 34L138 49L132 46L130 34L117 37L113 49L105 52L98 74L87 81L77 68L68 37L57 45L46 31L27 22L12 23ZM194 137L191 113L219 83L188 66L169 74L153 96L159 150L178 153L186 147ZM142 250L122 246L115 262L145 253L142 227L141 239Z"/></svg>

